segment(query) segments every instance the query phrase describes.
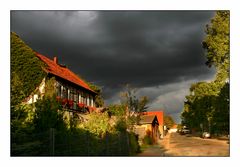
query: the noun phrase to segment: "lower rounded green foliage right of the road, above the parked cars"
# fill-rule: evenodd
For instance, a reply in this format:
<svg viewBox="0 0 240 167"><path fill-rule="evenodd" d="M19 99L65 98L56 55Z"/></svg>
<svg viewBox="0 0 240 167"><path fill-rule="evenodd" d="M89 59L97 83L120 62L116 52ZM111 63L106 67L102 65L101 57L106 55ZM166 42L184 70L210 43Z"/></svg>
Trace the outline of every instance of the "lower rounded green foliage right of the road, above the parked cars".
<svg viewBox="0 0 240 167"><path fill-rule="evenodd" d="M220 88L217 82L199 84L192 88L191 95L187 96L184 104L182 120L184 124L201 131L227 133L229 130L229 83ZM203 85L205 87L203 88ZM222 84L221 84L222 85ZM203 89L202 89L203 88ZM197 90L197 91L195 91ZM197 92L194 93L193 92Z"/></svg>

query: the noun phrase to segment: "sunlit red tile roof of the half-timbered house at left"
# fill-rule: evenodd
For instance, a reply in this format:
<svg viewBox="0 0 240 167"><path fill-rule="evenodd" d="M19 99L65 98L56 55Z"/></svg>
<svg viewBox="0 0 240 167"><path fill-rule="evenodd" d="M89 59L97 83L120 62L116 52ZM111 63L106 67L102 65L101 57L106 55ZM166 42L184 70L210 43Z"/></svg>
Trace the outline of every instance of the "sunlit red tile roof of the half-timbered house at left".
<svg viewBox="0 0 240 167"><path fill-rule="evenodd" d="M86 82L80 79L76 74L74 74L71 70L66 67L60 66L59 64L55 63L53 60L47 58L44 55L36 53L36 56L42 60L47 67L44 69L46 72L51 73L55 76L58 76L62 79L68 80L82 88L85 88L91 92L94 92ZM94 92L95 93L95 92Z"/></svg>

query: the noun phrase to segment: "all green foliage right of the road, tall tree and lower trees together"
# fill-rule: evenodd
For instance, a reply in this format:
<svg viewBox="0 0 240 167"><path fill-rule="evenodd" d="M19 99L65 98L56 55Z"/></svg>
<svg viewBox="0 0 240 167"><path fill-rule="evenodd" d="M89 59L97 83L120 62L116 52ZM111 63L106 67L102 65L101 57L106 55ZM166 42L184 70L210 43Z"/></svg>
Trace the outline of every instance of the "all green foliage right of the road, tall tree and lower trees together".
<svg viewBox="0 0 240 167"><path fill-rule="evenodd" d="M192 84L186 96L182 121L197 131L201 124L212 133L229 134L229 19L229 11L218 11L206 27L203 48L206 64L216 67L215 80Z"/></svg>

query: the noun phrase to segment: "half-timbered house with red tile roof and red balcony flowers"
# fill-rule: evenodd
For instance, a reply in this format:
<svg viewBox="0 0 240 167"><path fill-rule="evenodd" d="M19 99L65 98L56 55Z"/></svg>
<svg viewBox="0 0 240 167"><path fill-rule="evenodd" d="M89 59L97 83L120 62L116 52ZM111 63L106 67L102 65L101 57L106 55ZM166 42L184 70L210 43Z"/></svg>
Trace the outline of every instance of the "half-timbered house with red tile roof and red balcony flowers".
<svg viewBox="0 0 240 167"><path fill-rule="evenodd" d="M95 109L96 92L85 81L66 66L59 64L57 57L51 60L39 53L36 53L36 56L46 64L43 70L47 73L47 77L43 78L42 83L37 88L39 93L27 98L26 102L28 104L36 102L38 98L44 96L48 91L45 89L46 81L54 77L56 98L65 109L79 112Z"/></svg>

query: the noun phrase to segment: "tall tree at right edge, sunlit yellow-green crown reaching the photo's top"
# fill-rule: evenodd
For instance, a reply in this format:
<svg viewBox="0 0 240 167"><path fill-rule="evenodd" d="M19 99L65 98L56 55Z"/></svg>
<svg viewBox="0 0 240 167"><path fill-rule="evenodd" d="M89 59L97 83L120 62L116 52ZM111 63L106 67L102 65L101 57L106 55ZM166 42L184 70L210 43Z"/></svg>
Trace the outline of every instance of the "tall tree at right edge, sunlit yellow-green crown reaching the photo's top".
<svg viewBox="0 0 240 167"><path fill-rule="evenodd" d="M229 72L230 72L230 12L217 11L207 25L203 48L207 52L207 65L215 66L218 96L213 103L212 122L216 131L229 133ZM214 127L213 127L214 128Z"/></svg>

